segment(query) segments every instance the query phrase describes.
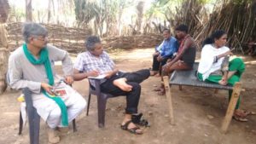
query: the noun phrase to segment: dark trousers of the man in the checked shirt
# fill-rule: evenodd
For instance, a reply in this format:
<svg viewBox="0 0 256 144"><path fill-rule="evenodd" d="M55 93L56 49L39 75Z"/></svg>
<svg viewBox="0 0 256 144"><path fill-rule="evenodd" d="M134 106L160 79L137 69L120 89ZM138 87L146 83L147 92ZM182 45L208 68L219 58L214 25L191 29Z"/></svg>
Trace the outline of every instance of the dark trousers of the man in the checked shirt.
<svg viewBox="0 0 256 144"><path fill-rule="evenodd" d="M144 69L137 72L119 72L118 75L113 75L108 78L106 82L101 84L102 92L115 96L126 96L126 108L125 113L132 114L137 113L137 106L141 95L141 85L143 80L147 79L150 75L149 70ZM132 86L131 91L123 91L119 87L113 85L113 81L118 78L126 78L127 84Z"/></svg>

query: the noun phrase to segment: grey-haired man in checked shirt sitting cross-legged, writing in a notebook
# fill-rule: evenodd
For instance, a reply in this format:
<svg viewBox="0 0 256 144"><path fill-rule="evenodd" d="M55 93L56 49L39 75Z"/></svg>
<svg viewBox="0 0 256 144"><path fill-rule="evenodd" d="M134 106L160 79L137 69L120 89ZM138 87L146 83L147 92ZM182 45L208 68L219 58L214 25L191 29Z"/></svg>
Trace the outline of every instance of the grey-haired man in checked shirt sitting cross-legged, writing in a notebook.
<svg viewBox="0 0 256 144"><path fill-rule="evenodd" d="M140 83L149 77L149 70L119 72L113 60L103 51L99 37L88 37L85 46L87 51L78 55L74 65L74 80L105 75L101 81L102 92L113 96L126 96L125 118L121 128L134 134L143 134L143 131L132 123L131 116L137 113L141 95ZM92 79L90 84L95 86Z"/></svg>

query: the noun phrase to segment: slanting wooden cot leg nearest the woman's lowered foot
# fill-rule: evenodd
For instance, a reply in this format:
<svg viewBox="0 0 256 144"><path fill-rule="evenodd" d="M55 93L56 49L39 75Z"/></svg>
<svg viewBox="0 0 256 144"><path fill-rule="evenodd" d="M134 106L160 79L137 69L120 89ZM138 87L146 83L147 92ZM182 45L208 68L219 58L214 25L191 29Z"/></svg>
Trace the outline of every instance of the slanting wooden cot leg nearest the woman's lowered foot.
<svg viewBox="0 0 256 144"><path fill-rule="evenodd" d="M241 92L241 83L237 82L233 87L233 93L232 93L232 97L230 99L229 107L227 109L224 121L222 123L221 130L224 133L227 132L228 127L230 125L230 121L233 117L235 107L236 107L236 103L237 103L237 100L239 98L240 92Z"/></svg>

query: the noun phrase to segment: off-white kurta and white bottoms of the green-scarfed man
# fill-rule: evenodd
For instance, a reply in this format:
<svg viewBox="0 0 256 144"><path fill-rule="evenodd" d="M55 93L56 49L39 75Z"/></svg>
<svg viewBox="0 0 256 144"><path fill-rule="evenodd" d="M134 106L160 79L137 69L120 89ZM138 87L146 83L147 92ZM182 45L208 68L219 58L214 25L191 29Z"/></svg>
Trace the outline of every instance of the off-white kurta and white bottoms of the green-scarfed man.
<svg viewBox="0 0 256 144"><path fill-rule="evenodd" d="M62 69L65 76L73 74L73 63L69 58L67 51L57 49L51 45L47 45L47 49L49 51L49 60L56 84L60 81L60 77L55 74L55 61L62 61ZM49 115L58 115L59 119L55 120L52 124L50 121L47 121L49 127L54 128L61 125L60 107L58 107L55 101L41 93L41 83L49 82L44 65L33 65L29 60L27 60L23 48L20 47L9 56L8 72L11 88L23 89L27 87L32 91L33 106L37 109L41 118L47 121L50 119ZM70 122L73 118L78 116L80 112L82 112L86 105L86 101L84 101L84 98L79 95L78 92L73 90L67 84L61 84L61 86L64 86L69 90L69 93L67 93L69 95L62 97L62 100L67 106L68 121ZM71 110L70 107L75 108L75 111Z"/></svg>

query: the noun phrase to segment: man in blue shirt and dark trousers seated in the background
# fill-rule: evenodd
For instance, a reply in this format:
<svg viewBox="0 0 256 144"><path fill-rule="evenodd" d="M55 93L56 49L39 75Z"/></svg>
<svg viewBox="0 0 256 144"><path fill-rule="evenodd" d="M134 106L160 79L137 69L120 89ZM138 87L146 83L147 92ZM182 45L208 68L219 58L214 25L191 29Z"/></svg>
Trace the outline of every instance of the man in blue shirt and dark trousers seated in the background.
<svg viewBox="0 0 256 144"><path fill-rule="evenodd" d="M154 76L161 71L160 66L164 66L166 60L172 58L173 54L177 52L177 39L171 36L169 29L163 31L163 36L165 38L164 41L155 49L153 54L153 65L152 71L150 72L151 76Z"/></svg>

